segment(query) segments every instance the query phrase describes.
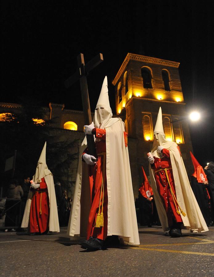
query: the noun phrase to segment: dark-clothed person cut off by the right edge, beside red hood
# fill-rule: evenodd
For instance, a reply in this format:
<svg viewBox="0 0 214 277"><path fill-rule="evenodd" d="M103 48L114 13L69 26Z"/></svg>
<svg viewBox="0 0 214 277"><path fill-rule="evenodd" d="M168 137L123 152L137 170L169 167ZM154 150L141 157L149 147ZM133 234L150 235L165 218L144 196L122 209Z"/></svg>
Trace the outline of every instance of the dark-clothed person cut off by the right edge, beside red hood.
<svg viewBox="0 0 214 277"><path fill-rule="evenodd" d="M204 167L205 173L207 175L207 182L204 184L207 185L211 207L212 207L212 226L214 225L214 162L210 162L206 167Z"/></svg>

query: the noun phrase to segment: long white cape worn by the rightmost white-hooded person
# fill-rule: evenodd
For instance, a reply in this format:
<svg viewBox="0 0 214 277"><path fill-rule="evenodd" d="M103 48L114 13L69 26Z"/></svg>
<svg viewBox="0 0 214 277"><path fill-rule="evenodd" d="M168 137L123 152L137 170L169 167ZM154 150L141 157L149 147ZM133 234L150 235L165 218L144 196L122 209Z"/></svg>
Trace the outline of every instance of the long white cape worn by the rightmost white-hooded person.
<svg viewBox="0 0 214 277"><path fill-rule="evenodd" d="M177 144L169 143L169 147L164 148L168 149L170 152L177 200L181 209L186 214L186 216L183 216L181 214L181 218L184 224L183 229L191 229L201 232L208 231L207 224L205 223L204 217L201 213L195 195L190 186L184 162L182 157L180 157L180 152L178 151ZM159 219L164 231L167 231L169 229L167 214L163 202L157 191L154 170L151 169L150 165L149 174Z"/></svg>

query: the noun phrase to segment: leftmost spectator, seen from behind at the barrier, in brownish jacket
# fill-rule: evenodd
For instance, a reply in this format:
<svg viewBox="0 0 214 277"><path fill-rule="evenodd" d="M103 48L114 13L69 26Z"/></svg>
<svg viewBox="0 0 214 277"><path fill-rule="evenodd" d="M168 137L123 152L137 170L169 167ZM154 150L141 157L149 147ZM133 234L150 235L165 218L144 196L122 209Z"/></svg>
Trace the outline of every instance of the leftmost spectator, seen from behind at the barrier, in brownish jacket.
<svg viewBox="0 0 214 277"><path fill-rule="evenodd" d="M12 179L7 190L7 199L5 204L6 217L5 226L17 226L20 219L18 215L20 213L20 200L23 196L22 187L18 184L18 181ZM6 229L5 231L15 231L13 228Z"/></svg>

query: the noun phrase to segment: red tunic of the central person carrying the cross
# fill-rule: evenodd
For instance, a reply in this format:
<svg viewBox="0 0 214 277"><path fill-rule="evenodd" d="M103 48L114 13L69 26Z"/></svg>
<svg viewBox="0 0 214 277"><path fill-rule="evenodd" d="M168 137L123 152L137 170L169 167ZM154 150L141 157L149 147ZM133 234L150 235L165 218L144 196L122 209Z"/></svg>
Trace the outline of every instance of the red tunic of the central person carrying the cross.
<svg viewBox="0 0 214 277"><path fill-rule="evenodd" d="M95 222L97 214L99 211L99 199L100 190L103 178L103 155L98 155L100 153L106 153L106 130L96 128L96 138L101 139L96 141L96 153L97 153L97 163L95 166L89 167L89 183L90 183L90 194L91 194L91 209L89 212L88 226L87 226L87 239L90 237L95 237L98 239L105 240L107 237L107 226L108 226L108 193L107 193L107 179L106 179L106 168L104 173L104 201L103 201L103 218L104 227L95 227ZM85 153L85 152L84 152ZM106 157L105 157L106 159ZM101 199L103 199L103 193L101 194ZM102 207L102 201L101 201ZM101 208L100 208L101 210Z"/></svg>

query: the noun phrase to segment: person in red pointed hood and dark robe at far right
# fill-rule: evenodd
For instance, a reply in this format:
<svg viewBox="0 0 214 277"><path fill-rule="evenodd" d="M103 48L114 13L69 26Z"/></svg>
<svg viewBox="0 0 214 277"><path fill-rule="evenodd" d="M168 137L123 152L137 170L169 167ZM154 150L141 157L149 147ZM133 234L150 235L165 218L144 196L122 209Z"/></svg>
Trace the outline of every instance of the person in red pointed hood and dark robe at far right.
<svg viewBox="0 0 214 277"><path fill-rule="evenodd" d="M212 207L211 199L208 191L208 185L205 185L207 182L207 175L204 173L203 167L196 160L192 152L190 151L190 156L192 158L192 163L194 166L194 173L191 176L191 187L192 191L196 197L198 205L201 209L204 220L207 223L207 226L212 225Z"/></svg>

